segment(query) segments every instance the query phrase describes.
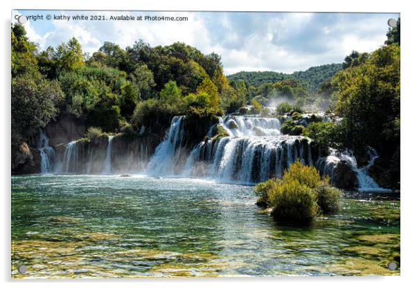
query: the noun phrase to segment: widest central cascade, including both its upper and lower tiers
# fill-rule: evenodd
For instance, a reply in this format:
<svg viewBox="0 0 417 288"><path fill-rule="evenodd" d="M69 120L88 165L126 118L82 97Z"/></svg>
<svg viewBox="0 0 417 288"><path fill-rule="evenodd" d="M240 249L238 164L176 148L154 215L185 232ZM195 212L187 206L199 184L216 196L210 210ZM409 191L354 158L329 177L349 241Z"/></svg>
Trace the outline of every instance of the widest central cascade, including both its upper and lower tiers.
<svg viewBox="0 0 417 288"><path fill-rule="evenodd" d="M310 139L281 135L275 118L227 116L219 120L229 136L199 143L188 156L183 176L252 183L281 177L297 159L312 165Z"/></svg>

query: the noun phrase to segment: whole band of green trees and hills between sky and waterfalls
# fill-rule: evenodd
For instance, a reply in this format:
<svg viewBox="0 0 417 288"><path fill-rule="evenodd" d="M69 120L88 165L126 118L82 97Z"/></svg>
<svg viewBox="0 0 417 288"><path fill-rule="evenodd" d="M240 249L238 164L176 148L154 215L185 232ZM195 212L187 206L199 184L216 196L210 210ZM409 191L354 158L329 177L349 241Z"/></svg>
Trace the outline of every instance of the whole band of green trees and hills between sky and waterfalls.
<svg viewBox="0 0 417 288"><path fill-rule="evenodd" d="M15 24L12 40L12 152L34 143L38 129L62 114L103 132L137 132L143 125L169 123L172 116L213 118L248 104L254 112L278 106L277 114L327 110L341 123L311 123L294 129L299 114L283 128L319 145L350 149L361 159L366 147L382 157L389 181L399 181L400 21L372 53L353 51L342 64L283 74L240 72L228 78L221 57L183 43L154 46L138 40L121 48L105 42L86 55L77 39L44 51ZM285 103L282 103L285 102ZM287 109L285 109L287 107Z"/></svg>

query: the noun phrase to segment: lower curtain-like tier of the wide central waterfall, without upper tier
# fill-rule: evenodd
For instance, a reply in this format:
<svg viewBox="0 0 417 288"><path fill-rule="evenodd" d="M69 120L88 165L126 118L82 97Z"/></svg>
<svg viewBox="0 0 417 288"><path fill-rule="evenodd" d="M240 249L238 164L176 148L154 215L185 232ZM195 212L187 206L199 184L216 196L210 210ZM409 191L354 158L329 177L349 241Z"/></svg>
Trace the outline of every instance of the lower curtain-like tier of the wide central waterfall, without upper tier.
<svg viewBox="0 0 417 288"><path fill-rule="evenodd" d="M310 140L301 136L223 137L197 145L183 176L256 183L282 177L297 159L309 163Z"/></svg>

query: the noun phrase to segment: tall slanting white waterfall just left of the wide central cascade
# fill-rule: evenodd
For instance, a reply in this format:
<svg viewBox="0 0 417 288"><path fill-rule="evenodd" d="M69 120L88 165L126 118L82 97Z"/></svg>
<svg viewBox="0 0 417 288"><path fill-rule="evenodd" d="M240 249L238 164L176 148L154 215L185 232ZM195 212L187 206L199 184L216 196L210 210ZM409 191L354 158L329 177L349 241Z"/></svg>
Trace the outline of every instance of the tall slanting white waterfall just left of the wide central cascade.
<svg viewBox="0 0 417 288"><path fill-rule="evenodd" d="M157 146L148 163L148 174L160 176L175 173L175 166L181 154L184 136L184 117L175 116L172 118L166 140Z"/></svg>

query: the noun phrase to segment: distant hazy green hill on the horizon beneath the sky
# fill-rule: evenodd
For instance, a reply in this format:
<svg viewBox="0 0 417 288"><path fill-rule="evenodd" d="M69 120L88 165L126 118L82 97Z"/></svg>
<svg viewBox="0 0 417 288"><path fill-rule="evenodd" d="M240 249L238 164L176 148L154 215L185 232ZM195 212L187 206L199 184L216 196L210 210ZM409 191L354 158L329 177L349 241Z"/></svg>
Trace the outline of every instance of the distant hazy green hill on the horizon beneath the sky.
<svg viewBox="0 0 417 288"><path fill-rule="evenodd" d="M320 66L310 67L306 71L296 71L291 74L273 72L273 71L258 71L258 72L238 72L227 76L229 80L244 80L249 85L258 87L264 83L276 83L287 78L294 78L300 84L305 86L309 92L316 91L320 84L331 78L335 73L341 70L340 64L326 64Z"/></svg>

